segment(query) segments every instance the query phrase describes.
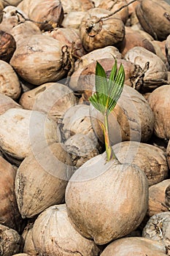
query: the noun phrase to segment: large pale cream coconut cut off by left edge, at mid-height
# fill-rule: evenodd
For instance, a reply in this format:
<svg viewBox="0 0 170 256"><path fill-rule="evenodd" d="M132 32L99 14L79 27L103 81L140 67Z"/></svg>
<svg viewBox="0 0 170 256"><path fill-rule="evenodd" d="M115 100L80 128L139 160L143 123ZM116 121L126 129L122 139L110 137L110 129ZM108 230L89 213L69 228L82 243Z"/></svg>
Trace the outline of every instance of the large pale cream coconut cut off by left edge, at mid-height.
<svg viewBox="0 0 170 256"><path fill-rule="evenodd" d="M11 108L0 116L0 148L10 161L18 164L36 146L58 141L57 124L44 113Z"/></svg>

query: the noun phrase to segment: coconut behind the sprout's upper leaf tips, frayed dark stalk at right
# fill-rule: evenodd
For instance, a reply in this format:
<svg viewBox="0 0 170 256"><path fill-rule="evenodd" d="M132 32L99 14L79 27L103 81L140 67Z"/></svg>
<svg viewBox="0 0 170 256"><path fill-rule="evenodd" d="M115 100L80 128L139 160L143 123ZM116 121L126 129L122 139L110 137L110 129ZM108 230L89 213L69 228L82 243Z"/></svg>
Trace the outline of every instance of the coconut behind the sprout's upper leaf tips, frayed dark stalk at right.
<svg viewBox="0 0 170 256"><path fill-rule="evenodd" d="M107 76L112 70L112 65L115 62L114 58L104 58L99 59L98 62L106 70ZM134 64L131 61L125 61L124 59L117 59L117 67L120 67L120 64L123 64L125 69L125 85L131 86L137 91L140 91L143 85L144 74L147 71L142 69L139 65ZM72 74L71 83L74 80L74 88L79 89L82 93L82 99L88 102L88 98L93 93L93 88L95 86L95 67L96 61L88 64L81 70L80 74L79 69ZM75 75L79 75L78 77ZM76 84L77 83L77 84Z"/></svg>

